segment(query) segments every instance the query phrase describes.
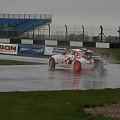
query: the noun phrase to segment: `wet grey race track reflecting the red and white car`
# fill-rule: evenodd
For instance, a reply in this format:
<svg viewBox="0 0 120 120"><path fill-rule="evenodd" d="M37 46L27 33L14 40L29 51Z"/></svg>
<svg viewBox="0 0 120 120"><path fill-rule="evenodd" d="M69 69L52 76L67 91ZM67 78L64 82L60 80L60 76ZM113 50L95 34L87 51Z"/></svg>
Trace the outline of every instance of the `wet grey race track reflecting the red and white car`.
<svg viewBox="0 0 120 120"><path fill-rule="evenodd" d="M35 58L35 61L47 62L48 59ZM0 66L0 91L119 88L119 76L120 65L118 64L108 64L108 70L103 74L95 71L75 73L61 68L50 71L48 65Z"/></svg>

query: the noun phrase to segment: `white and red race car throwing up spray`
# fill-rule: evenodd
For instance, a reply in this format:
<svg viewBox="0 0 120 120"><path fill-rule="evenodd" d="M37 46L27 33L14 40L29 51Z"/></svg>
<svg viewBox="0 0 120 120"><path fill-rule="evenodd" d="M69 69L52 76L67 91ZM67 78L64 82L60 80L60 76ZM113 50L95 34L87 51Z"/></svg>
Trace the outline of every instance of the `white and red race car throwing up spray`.
<svg viewBox="0 0 120 120"><path fill-rule="evenodd" d="M73 69L75 72L82 70L104 69L104 60L101 56L87 56L82 49L68 49L65 53L53 55L49 59L50 70L56 67Z"/></svg>

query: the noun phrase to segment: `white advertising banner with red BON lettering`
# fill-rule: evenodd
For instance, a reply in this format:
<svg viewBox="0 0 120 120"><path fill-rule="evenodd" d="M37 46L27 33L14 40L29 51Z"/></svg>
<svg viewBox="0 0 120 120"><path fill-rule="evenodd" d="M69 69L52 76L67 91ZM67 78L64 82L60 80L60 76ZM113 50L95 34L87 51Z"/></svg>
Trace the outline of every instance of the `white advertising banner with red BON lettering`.
<svg viewBox="0 0 120 120"><path fill-rule="evenodd" d="M0 53L17 54L18 44L0 44Z"/></svg>

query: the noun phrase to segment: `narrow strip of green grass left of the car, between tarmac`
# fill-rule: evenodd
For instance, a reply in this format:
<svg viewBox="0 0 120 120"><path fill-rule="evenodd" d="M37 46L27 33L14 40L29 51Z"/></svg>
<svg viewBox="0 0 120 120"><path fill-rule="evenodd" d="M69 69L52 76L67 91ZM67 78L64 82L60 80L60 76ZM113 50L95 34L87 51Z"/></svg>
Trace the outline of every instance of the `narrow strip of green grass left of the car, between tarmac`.
<svg viewBox="0 0 120 120"><path fill-rule="evenodd" d="M35 63L35 62L22 62L15 60L0 60L0 65L40 65L45 63Z"/></svg>

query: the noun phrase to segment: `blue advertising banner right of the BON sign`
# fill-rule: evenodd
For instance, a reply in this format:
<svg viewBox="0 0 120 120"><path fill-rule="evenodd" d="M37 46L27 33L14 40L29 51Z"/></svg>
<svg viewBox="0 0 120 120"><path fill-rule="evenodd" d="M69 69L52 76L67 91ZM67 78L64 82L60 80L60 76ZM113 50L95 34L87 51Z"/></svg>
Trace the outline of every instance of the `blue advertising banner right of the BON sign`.
<svg viewBox="0 0 120 120"><path fill-rule="evenodd" d="M18 54L24 55L44 55L44 46L38 45L19 45Z"/></svg>

